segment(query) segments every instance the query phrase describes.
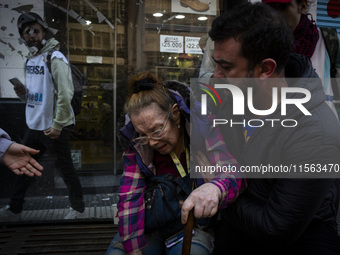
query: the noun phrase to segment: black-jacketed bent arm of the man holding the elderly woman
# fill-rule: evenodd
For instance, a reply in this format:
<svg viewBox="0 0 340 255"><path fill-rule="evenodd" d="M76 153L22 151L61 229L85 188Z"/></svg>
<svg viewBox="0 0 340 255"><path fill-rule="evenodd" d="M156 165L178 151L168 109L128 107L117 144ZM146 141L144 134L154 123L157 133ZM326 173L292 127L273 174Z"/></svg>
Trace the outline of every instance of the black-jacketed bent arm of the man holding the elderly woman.
<svg viewBox="0 0 340 255"><path fill-rule="evenodd" d="M331 114L326 110L319 114L313 112L308 122L299 122L299 129L286 130L285 135L278 137L282 139L277 152L280 164L340 164L339 124L325 117ZM256 144L254 140L253 144ZM240 196L225 211L225 219L259 243L269 239L286 244L294 242L316 217L334 182L330 178L306 178L268 181L270 186L264 187L269 189L265 191L268 194L262 200L246 194Z"/></svg>

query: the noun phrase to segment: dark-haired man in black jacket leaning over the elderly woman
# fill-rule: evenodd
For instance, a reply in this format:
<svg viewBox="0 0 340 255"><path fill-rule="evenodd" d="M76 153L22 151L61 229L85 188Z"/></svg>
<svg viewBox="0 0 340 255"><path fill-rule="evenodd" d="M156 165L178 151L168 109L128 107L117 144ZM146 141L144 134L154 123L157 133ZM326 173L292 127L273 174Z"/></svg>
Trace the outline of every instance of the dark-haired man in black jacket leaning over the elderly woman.
<svg viewBox="0 0 340 255"><path fill-rule="evenodd" d="M340 165L340 126L310 62L290 55L289 28L261 4L248 3L218 17L209 35L215 46L214 77L229 83L254 78L232 83L252 98L244 114L233 114L238 98L233 95L231 101L226 92L218 115L229 123L220 128L230 152L243 169L277 170L274 175L247 173L247 190L221 212L216 254L340 254L331 178L339 175L333 173ZM287 90L305 95L280 93ZM289 100L296 104L287 105ZM299 105L301 100L305 103ZM264 114L268 109L273 110Z"/></svg>

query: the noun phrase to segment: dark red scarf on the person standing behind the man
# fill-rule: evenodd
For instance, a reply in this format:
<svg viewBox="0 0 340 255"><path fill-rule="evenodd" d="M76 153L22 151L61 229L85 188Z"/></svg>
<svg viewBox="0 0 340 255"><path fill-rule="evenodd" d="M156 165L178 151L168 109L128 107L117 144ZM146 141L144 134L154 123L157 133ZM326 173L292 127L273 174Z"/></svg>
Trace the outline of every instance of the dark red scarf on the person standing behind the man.
<svg viewBox="0 0 340 255"><path fill-rule="evenodd" d="M312 17L309 19L306 14L301 16L300 23L294 31L294 38L293 53L305 55L310 59L319 40L319 31Z"/></svg>

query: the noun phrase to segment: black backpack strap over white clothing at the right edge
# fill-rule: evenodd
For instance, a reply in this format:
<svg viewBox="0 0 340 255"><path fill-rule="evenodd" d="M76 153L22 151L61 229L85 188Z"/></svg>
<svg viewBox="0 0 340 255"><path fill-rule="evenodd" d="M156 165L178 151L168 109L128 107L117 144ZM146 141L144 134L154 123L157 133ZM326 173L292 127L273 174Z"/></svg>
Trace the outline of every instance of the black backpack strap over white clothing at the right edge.
<svg viewBox="0 0 340 255"><path fill-rule="evenodd" d="M336 76L336 67L335 67L335 62L336 62L336 57L338 54L339 50L339 39L338 39L338 32L335 28L326 28L322 27L320 28L325 45L326 45L326 50L329 55L329 59L331 62L331 78L335 78ZM332 79L332 89L333 89L333 94L334 98L340 97L340 91L338 89L338 86L336 84L336 80Z"/></svg>

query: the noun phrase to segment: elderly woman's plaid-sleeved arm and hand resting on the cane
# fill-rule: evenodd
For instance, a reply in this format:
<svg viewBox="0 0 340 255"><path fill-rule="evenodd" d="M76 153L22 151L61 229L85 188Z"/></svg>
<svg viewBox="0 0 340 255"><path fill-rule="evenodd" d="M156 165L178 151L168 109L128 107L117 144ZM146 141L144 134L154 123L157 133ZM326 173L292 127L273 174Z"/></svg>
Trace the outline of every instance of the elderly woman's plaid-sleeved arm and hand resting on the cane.
<svg viewBox="0 0 340 255"><path fill-rule="evenodd" d="M229 166L239 169L236 159L229 153L223 136L219 129L209 132L206 139L207 154L199 152L198 165L202 166ZM189 211L194 208L196 218L212 217L218 209L228 206L235 201L246 188L247 182L242 175L235 173L212 173L207 178L212 179L191 192L182 206L182 223L185 224Z"/></svg>

